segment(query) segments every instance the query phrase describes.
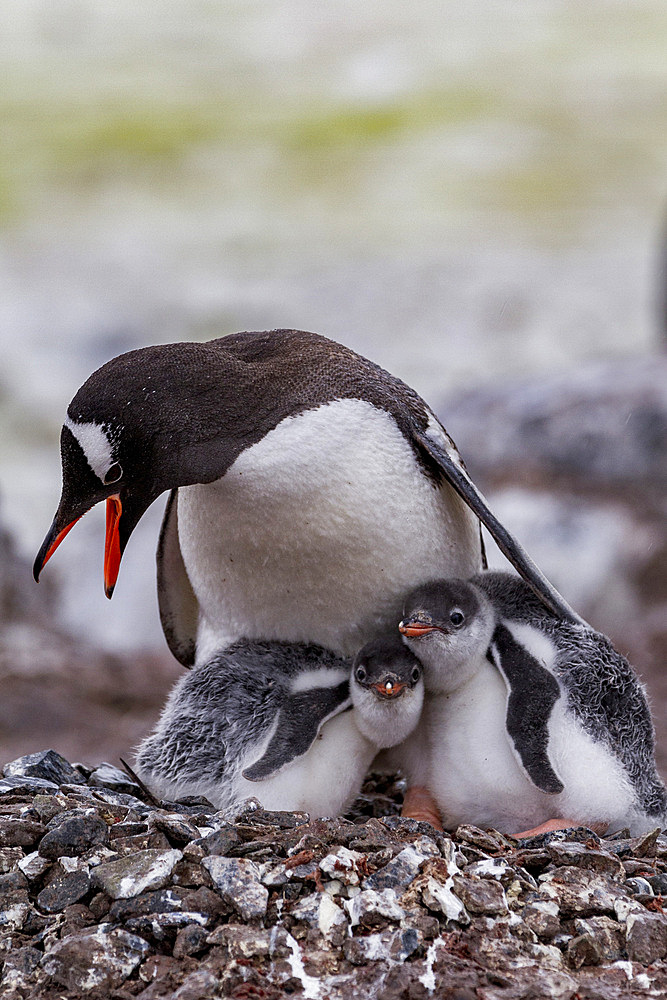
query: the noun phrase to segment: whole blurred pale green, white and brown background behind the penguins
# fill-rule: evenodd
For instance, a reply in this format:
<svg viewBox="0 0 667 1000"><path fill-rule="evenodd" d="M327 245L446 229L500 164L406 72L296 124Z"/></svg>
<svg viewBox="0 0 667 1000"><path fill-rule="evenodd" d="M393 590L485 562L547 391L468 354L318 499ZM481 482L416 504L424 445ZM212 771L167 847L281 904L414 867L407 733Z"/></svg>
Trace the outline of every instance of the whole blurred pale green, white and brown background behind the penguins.
<svg viewBox="0 0 667 1000"><path fill-rule="evenodd" d="M662 0L3 7L3 760L116 760L180 670L162 501L111 603L101 509L32 583L69 399L124 350L296 326L438 410L642 672L667 774L665 51Z"/></svg>

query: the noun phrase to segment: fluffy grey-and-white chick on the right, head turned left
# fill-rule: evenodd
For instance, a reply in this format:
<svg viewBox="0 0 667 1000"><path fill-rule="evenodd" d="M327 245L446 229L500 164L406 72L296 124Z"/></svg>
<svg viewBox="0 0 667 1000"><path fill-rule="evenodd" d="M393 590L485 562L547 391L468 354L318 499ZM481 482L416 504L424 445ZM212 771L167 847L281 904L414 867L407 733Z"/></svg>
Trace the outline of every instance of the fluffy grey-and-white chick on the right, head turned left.
<svg viewBox="0 0 667 1000"><path fill-rule="evenodd" d="M605 636L507 573L422 585L399 629L427 691L428 763L409 777L445 826L665 825L646 696Z"/></svg>

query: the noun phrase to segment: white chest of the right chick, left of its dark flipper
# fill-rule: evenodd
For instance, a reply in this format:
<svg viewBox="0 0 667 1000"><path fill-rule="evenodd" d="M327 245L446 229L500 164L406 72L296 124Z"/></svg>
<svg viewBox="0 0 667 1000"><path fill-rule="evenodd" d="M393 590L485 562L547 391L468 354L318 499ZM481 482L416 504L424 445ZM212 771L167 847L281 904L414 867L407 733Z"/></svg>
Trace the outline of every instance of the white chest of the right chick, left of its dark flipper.
<svg viewBox="0 0 667 1000"><path fill-rule="evenodd" d="M497 671L484 662L459 690L427 697L430 785L445 827L465 822L512 830L532 821L545 796L510 746L507 694Z"/></svg>

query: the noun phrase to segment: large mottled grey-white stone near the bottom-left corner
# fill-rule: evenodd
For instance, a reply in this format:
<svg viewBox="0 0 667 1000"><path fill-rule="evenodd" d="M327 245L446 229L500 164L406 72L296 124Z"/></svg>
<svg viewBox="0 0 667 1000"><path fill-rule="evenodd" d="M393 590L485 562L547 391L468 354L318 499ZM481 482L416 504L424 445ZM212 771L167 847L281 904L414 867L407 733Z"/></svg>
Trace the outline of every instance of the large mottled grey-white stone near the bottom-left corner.
<svg viewBox="0 0 667 1000"><path fill-rule="evenodd" d="M95 988L115 989L149 951L150 945L136 934L100 924L56 941L44 955L41 967L69 990L86 993Z"/></svg>

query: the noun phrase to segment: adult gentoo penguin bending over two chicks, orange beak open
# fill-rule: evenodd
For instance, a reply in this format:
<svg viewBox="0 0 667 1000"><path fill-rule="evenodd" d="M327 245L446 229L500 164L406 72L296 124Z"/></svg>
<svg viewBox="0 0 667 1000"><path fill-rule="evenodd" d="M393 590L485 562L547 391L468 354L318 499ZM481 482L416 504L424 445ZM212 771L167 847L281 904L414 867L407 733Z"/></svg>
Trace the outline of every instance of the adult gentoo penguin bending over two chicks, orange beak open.
<svg viewBox="0 0 667 1000"><path fill-rule="evenodd" d="M351 655L402 595L483 567L480 518L540 599L575 618L493 517L449 436L399 379L313 333L239 333L130 351L67 409L63 488L35 578L106 500L104 580L171 491L158 550L169 646L205 663L240 638Z"/></svg>

